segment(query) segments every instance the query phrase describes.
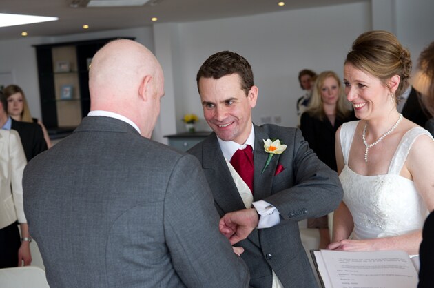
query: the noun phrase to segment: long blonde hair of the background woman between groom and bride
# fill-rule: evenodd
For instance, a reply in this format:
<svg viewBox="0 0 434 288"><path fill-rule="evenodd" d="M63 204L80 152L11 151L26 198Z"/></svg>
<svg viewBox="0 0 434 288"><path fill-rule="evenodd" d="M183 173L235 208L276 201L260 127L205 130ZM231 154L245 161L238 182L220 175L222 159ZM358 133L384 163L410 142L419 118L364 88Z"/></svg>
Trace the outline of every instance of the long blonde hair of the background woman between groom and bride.
<svg viewBox="0 0 434 288"><path fill-rule="evenodd" d="M333 78L338 82L338 102L336 102L336 117L344 119L350 114L348 104L346 103L344 90L342 89L342 83L339 79L338 74L333 71L324 71L316 77L316 81L313 84L312 96L309 101L309 106L306 112L309 115L316 117L320 120L325 119L327 116L324 112L324 105L322 104L321 89L324 85L324 81L327 78Z"/></svg>

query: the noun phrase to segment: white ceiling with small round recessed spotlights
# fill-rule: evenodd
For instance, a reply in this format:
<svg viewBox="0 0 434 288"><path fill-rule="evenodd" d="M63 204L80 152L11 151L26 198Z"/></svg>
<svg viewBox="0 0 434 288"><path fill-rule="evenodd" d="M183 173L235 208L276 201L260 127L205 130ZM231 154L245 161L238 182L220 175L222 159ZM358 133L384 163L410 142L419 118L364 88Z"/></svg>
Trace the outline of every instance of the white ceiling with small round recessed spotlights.
<svg viewBox="0 0 434 288"><path fill-rule="evenodd" d="M154 0L128 8L70 8L70 1L0 0L0 13L59 17L59 21L0 28L0 40L19 38L23 31L29 37L50 37L142 27L152 25L152 17L158 17L158 23L190 22L369 0L286 0L282 7L278 0ZM84 24L90 29L83 30Z"/></svg>

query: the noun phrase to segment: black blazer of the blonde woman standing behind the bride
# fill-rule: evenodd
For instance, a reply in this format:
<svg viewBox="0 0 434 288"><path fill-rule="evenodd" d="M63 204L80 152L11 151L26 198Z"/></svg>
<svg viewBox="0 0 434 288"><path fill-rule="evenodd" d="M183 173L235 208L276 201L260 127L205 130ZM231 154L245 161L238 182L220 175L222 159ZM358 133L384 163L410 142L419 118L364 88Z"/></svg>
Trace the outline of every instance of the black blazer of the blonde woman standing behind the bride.
<svg viewBox="0 0 434 288"><path fill-rule="evenodd" d="M331 125L329 119L320 120L311 116L309 112L304 112L301 116L300 130L302 130L304 139L318 158L335 171L338 169L335 154L336 130L340 125L351 120L355 120L353 113L346 119L336 117L335 125Z"/></svg>

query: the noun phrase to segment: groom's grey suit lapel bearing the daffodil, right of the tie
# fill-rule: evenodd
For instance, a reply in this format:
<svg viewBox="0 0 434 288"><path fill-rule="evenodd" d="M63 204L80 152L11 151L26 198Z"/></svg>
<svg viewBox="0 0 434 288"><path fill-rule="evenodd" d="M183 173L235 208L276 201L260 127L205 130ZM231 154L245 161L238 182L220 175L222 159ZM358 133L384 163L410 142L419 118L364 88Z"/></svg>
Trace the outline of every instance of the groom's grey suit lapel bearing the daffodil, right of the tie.
<svg viewBox="0 0 434 288"><path fill-rule="evenodd" d="M254 125L255 129L255 151L254 151L254 201L267 198L271 195L271 189L273 187L274 172L278 165L280 155L275 154L271 158L271 161L264 173L261 174L262 169L267 163L269 154L264 150L264 141L268 138L277 138L278 135L268 135L262 127Z"/></svg>

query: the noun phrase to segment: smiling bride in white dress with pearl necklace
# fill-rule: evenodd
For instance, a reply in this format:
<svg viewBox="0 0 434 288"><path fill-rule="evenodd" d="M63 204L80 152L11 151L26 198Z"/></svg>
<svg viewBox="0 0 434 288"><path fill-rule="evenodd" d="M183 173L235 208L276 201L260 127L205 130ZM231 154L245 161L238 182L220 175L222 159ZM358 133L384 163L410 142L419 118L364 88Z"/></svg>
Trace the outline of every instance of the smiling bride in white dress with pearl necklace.
<svg viewBox="0 0 434 288"><path fill-rule="evenodd" d="M410 72L409 52L389 32L361 34L347 55L345 92L360 121L336 132L344 198L328 249L419 251L434 209L434 141L397 112Z"/></svg>

